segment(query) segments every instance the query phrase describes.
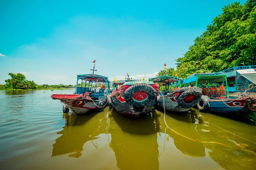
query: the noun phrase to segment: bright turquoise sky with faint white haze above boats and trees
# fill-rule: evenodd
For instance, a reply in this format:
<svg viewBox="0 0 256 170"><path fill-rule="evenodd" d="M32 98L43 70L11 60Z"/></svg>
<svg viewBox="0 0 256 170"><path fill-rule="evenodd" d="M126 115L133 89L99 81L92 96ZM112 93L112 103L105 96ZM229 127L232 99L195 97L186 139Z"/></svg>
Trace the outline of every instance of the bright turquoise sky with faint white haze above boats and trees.
<svg viewBox="0 0 256 170"><path fill-rule="evenodd" d="M221 8L235 0L0 1L0 84L23 73L38 84L154 77L175 67ZM246 1L239 1L244 4Z"/></svg>

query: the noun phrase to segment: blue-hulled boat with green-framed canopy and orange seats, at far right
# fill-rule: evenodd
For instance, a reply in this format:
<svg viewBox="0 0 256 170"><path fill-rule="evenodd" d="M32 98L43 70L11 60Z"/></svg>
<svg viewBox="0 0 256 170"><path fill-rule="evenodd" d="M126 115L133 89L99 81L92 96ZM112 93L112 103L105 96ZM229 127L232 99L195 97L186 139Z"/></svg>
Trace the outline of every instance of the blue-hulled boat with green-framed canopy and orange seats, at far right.
<svg viewBox="0 0 256 170"><path fill-rule="evenodd" d="M200 111L214 111L217 113L256 111L256 96L244 97L229 95L229 88L223 86L228 86L227 75L225 74L197 74L184 79L183 83L185 86L205 86L205 88L202 88L203 96L197 104Z"/></svg>

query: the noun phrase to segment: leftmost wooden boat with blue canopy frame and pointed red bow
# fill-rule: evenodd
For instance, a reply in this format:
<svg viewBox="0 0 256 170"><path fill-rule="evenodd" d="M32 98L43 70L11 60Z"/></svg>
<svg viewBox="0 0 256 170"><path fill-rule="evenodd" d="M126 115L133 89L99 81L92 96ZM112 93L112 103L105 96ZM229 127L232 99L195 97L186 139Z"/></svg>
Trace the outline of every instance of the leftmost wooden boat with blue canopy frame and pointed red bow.
<svg viewBox="0 0 256 170"><path fill-rule="evenodd" d="M93 67L93 73L94 71ZM81 87L78 86L79 80L81 80ZM91 110L103 111L109 94L108 77L97 74L80 74L77 75L74 94L52 94L51 97L64 103L63 113L70 110L72 113L80 115Z"/></svg>

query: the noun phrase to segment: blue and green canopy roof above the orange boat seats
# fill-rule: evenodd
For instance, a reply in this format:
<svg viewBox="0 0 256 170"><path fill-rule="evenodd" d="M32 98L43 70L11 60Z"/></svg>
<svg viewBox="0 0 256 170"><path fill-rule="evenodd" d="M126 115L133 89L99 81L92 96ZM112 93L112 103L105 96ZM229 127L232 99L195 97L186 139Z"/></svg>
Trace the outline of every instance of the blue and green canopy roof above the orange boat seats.
<svg viewBox="0 0 256 170"><path fill-rule="evenodd" d="M190 77L188 79L183 80L183 84L189 83L190 85L195 85L196 82L198 84L204 84L204 83L212 83L212 82L223 82L227 80L227 76L225 74L221 75L195 75L194 77Z"/></svg>

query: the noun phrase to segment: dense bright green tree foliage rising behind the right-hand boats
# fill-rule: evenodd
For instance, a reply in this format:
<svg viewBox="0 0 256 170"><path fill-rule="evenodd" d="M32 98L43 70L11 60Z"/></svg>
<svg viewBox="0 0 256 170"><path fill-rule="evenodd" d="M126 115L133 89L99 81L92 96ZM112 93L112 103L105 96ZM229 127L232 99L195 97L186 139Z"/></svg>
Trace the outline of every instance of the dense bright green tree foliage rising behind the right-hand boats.
<svg viewBox="0 0 256 170"><path fill-rule="evenodd" d="M224 6L169 75L186 78L193 73L217 72L241 65L256 65L256 0ZM164 72L161 71L160 75Z"/></svg>

